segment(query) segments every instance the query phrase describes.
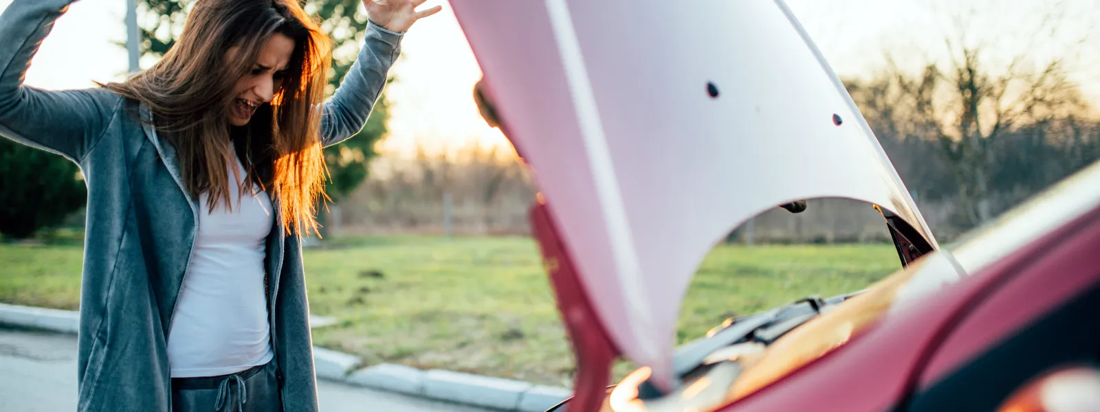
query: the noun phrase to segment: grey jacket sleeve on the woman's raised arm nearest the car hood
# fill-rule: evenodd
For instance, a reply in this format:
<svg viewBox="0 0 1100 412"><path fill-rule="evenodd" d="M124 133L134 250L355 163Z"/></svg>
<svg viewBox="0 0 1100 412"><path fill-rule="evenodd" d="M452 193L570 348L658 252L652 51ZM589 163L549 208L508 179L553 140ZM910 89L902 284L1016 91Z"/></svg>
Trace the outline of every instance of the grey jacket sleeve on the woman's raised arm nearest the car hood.
<svg viewBox="0 0 1100 412"><path fill-rule="evenodd" d="M386 86L405 33L367 22L365 43L336 93L321 111L321 143L331 146L359 133Z"/></svg>

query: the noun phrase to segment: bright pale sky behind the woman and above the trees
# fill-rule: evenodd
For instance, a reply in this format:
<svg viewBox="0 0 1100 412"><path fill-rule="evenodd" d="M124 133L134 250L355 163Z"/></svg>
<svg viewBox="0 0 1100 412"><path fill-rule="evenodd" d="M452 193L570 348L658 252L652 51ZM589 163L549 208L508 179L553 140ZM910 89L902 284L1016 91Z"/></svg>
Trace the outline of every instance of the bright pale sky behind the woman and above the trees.
<svg viewBox="0 0 1100 412"><path fill-rule="evenodd" d="M14 0L37 1L37 0ZM532 1L532 0L515 0ZM735 0L729 0L735 1ZM765 1L765 0L736 0ZM0 0L7 9L12 0ZM92 87L94 80L121 79L127 55L125 0L80 0L43 42L26 76L46 89ZM532 1L535 3L535 1ZM985 44L991 65L1025 54L1043 62L1070 62L1071 79L1100 107L1100 3L1094 0L788 0L825 58L842 77L872 74L890 52L903 66L919 68L944 59L945 33L952 16L964 16L967 44ZM417 22L403 41L403 56L392 73L389 136L380 151L408 155L419 145L450 151L470 145L507 147L499 131L488 127L471 98L481 77L447 0L428 0L443 10ZM1037 16L1060 11L1055 34L1040 32ZM955 36L956 38L958 36ZM3 41L3 40L0 40ZM1082 42L1084 41L1084 42Z"/></svg>

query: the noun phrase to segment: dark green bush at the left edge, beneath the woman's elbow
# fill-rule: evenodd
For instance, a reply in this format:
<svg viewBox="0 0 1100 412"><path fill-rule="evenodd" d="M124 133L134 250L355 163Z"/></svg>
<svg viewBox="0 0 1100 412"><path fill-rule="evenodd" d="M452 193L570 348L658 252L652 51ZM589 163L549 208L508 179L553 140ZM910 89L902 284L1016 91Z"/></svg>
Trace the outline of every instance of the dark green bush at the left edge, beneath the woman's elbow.
<svg viewBox="0 0 1100 412"><path fill-rule="evenodd" d="M62 156L0 138L0 234L28 238L84 207L79 172Z"/></svg>

